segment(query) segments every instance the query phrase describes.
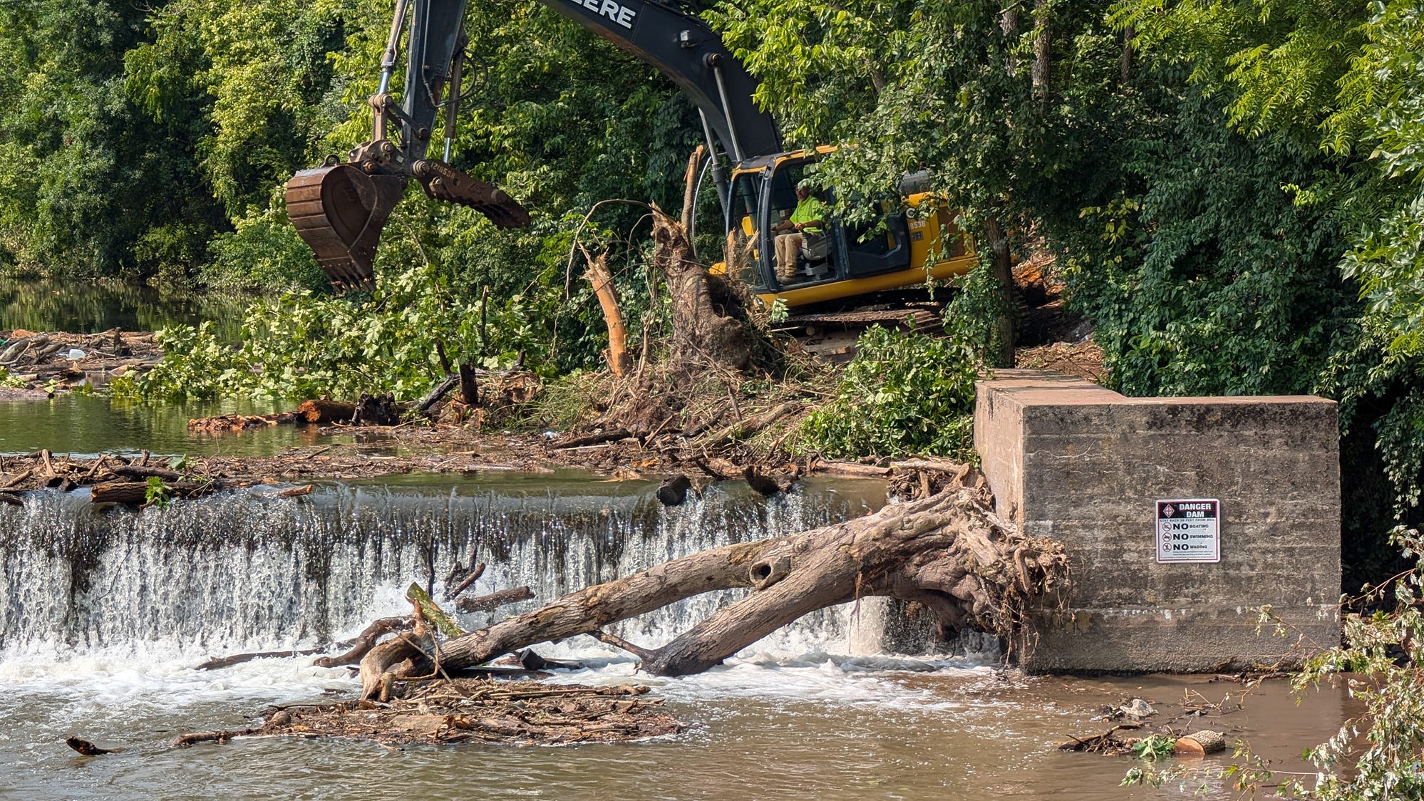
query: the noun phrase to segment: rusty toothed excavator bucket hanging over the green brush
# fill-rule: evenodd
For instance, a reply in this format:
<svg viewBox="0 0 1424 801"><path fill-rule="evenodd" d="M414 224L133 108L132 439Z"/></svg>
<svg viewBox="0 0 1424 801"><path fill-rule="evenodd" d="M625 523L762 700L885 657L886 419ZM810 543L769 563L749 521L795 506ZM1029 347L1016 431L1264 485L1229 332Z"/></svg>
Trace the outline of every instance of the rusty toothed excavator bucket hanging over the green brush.
<svg viewBox="0 0 1424 801"><path fill-rule="evenodd" d="M404 189L403 176L366 175L352 164L303 169L286 182L286 213L332 285L363 286Z"/></svg>

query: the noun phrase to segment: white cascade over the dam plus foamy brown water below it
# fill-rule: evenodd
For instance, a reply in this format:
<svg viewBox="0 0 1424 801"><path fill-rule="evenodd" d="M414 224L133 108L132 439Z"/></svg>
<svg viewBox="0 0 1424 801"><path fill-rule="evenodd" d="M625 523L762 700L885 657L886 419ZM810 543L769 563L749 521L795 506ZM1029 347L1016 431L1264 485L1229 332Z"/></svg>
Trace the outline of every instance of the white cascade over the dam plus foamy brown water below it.
<svg viewBox="0 0 1424 801"><path fill-rule="evenodd" d="M406 479L410 482L412 479ZM422 482L423 484L423 482ZM209 654L340 637L400 612L402 589L439 592L471 551L490 569L474 592L530 585L537 602L726 542L873 511L876 484L807 482L763 499L736 484L664 508L649 482L488 477L413 487L329 485L296 499L269 489L95 511L78 495L0 506L0 794L30 798L1209 798L1205 775L1119 788L1131 763L1052 744L1109 724L1099 707L1145 697L1171 713L1186 693L1239 693L1206 677L1022 677L973 639L946 654L863 653L871 608L809 616L701 676L632 673L587 639L540 647L585 660L560 681L651 684L691 728L649 743L568 748L386 748L369 743L238 740L175 750L188 730L248 726L269 703L350 693L345 669L269 659L215 672ZM701 619L718 593L621 625L649 646ZM524 605L523 608L528 608ZM523 608L514 608L523 609ZM467 616L466 626L486 619ZM1229 704L1235 709L1235 704ZM1280 767L1346 714L1321 691L1296 707L1283 684L1198 726L1246 736ZM64 737L127 750L80 757ZM1223 765L1215 758L1208 765Z"/></svg>

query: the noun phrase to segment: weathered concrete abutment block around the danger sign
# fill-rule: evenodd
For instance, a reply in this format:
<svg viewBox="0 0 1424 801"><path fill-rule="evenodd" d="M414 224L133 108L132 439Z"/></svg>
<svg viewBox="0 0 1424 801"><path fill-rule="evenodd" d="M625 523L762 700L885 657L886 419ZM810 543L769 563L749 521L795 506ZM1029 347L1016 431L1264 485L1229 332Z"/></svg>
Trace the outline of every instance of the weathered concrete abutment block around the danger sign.
<svg viewBox="0 0 1424 801"><path fill-rule="evenodd" d="M1037 370L981 381L975 445L1001 516L1062 542L1072 589L1025 629L1044 672L1206 672L1299 662L1340 639L1336 404L1128 398ZM1220 562L1158 563L1156 501L1220 499ZM1256 633L1270 605L1289 629Z"/></svg>

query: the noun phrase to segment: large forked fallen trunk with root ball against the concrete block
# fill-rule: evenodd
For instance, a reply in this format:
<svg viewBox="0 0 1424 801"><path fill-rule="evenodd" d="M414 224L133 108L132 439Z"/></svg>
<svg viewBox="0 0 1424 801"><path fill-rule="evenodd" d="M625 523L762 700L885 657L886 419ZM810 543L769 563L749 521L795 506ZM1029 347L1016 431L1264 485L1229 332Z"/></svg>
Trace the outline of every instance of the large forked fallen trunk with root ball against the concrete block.
<svg viewBox="0 0 1424 801"><path fill-rule="evenodd" d="M792 536L726 545L595 585L446 642L441 664L500 654L602 627L703 592L749 588L658 649L631 646L659 676L698 673L802 615L884 595L921 603L941 633L977 627L1012 636L1027 602L1067 582L1062 546L1025 538L970 489L941 492Z"/></svg>

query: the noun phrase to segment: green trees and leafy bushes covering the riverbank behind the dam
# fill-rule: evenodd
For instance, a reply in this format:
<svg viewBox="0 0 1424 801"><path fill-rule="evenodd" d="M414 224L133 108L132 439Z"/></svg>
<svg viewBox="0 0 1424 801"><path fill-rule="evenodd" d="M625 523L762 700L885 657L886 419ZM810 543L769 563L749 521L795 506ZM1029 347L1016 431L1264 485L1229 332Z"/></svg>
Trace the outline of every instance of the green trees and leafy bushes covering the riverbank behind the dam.
<svg viewBox="0 0 1424 801"><path fill-rule="evenodd" d="M605 201L675 212L696 114L531 1L468 11L478 65L454 162L534 225L500 232L412 191L375 289L329 295L279 186L366 137L389 11L0 6L0 64L19 77L0 85L0 270L266 293L236 343L169 327L164 363L120 387L148 397L414 400L451 366L515 363L574 394L607 346L577 245L612 266L629 351L671 353L652 219ZM1108 386L1339 400L1346 589L1407 568L1388 532L1418 526L1424 488L1417 4L739 0L703 14L763 81L789 144L846 145L813 175L836 213L857 219L856 199L927 169L983 259L948 307L954 339L871 334L840 388L803 384L809 403L834 398L786 444L961 452L971 376L1014 364L1008 266L1032 240L1091 323ZM711 260L715 243L696 243ZM805 374L766 359L716 370L783 388ZM735 391L728 408L740 418ZM936 421L923 437L916 415ZM1351 642L1383 642L1371 632Z"/></svg>

